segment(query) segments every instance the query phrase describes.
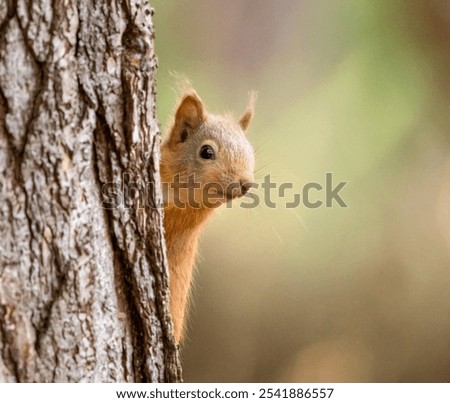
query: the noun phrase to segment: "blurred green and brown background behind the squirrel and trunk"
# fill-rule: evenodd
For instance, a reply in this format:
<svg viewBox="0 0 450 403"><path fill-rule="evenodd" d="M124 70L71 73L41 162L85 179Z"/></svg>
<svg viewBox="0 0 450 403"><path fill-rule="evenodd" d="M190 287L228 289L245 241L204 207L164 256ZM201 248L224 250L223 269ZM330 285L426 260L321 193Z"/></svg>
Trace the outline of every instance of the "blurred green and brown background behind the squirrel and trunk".
<svg viewBox="0 0 450 403"><path fill-rule="evenodd" d="M450 3L151 4L162 127L170 72L213 112L255 89L258 180L349 182L348 208L220 209L185 380L450 381Z"/></svg>

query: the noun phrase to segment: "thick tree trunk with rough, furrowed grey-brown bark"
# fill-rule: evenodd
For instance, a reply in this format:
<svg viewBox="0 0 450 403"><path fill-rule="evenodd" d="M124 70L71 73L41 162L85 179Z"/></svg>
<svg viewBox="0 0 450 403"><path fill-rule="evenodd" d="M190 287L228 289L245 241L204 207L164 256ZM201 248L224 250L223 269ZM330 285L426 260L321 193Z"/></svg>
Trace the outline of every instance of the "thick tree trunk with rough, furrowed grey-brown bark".
<svg viewBox="0 0 450 403"><path fill-rule="evenodd" d="M146 0L0 0L0 381L180 381ZM140 207L140 208L139 208Z"/></svg>

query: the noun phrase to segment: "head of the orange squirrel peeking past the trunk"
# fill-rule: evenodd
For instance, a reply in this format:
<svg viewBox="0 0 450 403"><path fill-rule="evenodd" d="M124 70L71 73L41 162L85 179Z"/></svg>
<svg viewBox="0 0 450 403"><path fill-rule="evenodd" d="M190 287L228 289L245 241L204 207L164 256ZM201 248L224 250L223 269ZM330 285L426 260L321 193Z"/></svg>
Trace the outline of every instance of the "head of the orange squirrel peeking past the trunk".
<svg viewBox="0 0 450 403"><path fill-rule="evenodd" d="M254 182L254 151L245 131L253 117L255 98L252 94L237 120L208 113L194 90L186 93L161 148L163 182L173 183L176 176L189 187L195 182L195 203L200 206L216 207L244 196Z"/></svg>

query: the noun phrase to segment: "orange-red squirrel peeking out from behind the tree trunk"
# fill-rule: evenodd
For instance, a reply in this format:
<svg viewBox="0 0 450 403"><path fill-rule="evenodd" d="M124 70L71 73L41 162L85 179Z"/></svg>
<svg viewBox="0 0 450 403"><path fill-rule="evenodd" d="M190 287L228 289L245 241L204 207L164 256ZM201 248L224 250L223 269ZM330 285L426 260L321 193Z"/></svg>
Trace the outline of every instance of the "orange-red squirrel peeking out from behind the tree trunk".
<svg viewBox="0 0 450 403"><path fill-rule="evenodd" d="M182 96L161 145L170 312L177 343L183 338L200 233L215 207L244 196L253 185L254 151L245 131L255 99L252 93L237 120L208 113L191 88Z"/></svg>

